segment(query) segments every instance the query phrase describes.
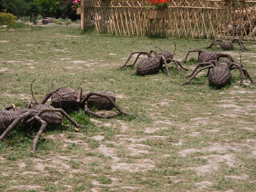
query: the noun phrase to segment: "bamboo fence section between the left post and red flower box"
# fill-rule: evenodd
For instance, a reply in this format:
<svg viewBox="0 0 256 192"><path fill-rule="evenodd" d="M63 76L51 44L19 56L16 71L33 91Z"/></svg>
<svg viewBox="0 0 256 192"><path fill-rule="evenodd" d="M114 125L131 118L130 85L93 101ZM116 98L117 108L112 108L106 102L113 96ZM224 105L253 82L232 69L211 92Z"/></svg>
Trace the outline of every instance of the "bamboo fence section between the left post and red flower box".
<svg viewBox="0 0 256 192"><path fill-rule="evenodd" d="M145 36L147 20L146 1L109 1L96 0L95 28L98 33L123 36Z"/></svg>

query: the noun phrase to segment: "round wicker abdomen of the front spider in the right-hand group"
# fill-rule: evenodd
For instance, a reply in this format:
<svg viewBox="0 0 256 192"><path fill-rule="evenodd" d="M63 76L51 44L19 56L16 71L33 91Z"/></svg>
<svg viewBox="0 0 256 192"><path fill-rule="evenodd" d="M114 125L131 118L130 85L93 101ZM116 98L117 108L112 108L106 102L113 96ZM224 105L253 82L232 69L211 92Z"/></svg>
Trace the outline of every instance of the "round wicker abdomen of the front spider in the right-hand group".
<svg viewBox="0 0 256 192"><path fill-rule="evenodd" d="M231 80L231 72L227 68L215 67L209 73L209 81L211 84L221 87L229 83Z"/></svg>

